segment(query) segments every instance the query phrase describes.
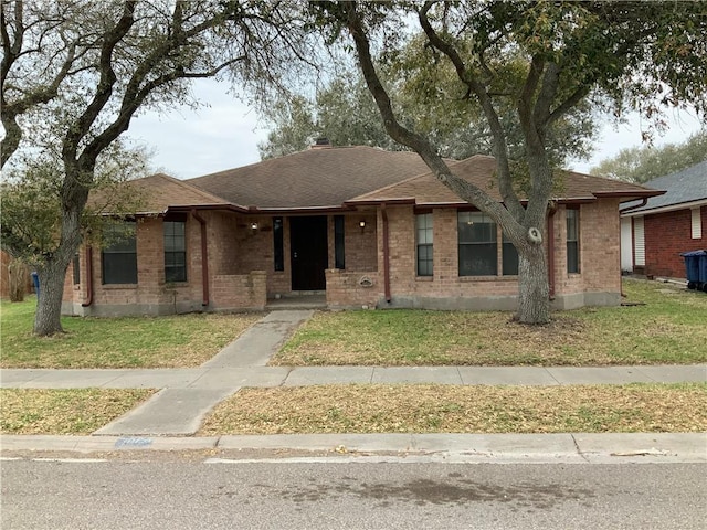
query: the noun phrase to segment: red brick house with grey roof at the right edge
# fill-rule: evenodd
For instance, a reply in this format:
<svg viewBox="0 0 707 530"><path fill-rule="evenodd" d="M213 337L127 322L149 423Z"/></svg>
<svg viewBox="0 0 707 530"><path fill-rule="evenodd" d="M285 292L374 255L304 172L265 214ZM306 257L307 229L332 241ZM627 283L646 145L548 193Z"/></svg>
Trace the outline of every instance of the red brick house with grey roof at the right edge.
<svg viewBox="0 0 707 530"><path fill-rule="evenodd" d="M666 190L621 214L621 268L685 278L680 253L707 248L707 160L644 186Z"/></svg>

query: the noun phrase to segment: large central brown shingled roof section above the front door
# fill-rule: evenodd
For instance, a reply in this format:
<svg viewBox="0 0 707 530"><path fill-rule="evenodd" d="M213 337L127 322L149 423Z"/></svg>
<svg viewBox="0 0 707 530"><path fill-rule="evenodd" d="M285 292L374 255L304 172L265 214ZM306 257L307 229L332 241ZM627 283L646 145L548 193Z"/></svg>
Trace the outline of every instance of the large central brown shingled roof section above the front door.
<svg viewBox="0 0 707 530"><path fill-rule="evenodd" d="M354 197L428 170L410 151L372 147L309 149L186 182L257 210L341 208Z"/></svg>

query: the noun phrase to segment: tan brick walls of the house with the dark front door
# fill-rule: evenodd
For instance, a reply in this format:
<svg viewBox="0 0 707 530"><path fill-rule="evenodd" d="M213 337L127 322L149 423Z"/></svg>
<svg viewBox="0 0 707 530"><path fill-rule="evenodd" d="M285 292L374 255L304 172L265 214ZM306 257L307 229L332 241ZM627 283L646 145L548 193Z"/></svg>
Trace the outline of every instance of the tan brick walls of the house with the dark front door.
<svg viewBox="0 0 707 530"><path fill-rule="evenodd" d="M580 273L567 273L566 216L560 206L552 215L555 229L555 295L574 296L561 307L584 305L587 294L618 294L620 278L619 200L605 199L580 209ZM187 282L167 284L163 267L161 218L137 223L138 283L103 285L99 250L93 253L94 303L82 308L87 296L86 254L81 252L81 285L73 285L70 267L64 290L65 312L161 314L190 310L262 309L267 297L291 292L289 220L284 218L285 271L274 271L273 219L232 212L201 212L207 221L210 304L202 307L201 226L191 215L187 220ZM511 309L517 299L516 276L460 277L457 212L432 211L433 276L416 276L415 212L411 205L389 206L390 289L392 306L473 307ZM360 221L366 221L361 230ZM251 223L257 223L252 230ZM334 218L328 220L329 307L386 307L383 285L382 212L356 212L345 218L346 269L333 268ZM502 258L500 231L497 233L498 262ZM547 241L547 237L546 237ZM499 266L500 271L500 266ZM468 306L468 303L473 303ZM579 300L579 301L577 301Z"/></svg>

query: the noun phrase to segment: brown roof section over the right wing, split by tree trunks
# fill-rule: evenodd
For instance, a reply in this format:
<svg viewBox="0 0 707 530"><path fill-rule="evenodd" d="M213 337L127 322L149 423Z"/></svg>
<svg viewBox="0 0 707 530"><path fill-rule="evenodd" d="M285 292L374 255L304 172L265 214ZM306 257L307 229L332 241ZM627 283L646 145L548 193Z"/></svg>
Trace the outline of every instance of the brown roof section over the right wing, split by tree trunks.
<svg viewBox="0 0 707 530"><path fill-rule="evenodd" d="M451 162L449 167L457 177L477 186L493 199L502 200L494 179L496 174L496 160L494 157L476 155L465 160ZM567 171L561 190L556 193L553 199L561 201L592 201L600 197L626 197L633 199L636 197L652 197L658 193L661 192L637 184ZM418 205L466 204L431 172L425 172L346 201L350 205L381 202L410 202Z"/></svg>

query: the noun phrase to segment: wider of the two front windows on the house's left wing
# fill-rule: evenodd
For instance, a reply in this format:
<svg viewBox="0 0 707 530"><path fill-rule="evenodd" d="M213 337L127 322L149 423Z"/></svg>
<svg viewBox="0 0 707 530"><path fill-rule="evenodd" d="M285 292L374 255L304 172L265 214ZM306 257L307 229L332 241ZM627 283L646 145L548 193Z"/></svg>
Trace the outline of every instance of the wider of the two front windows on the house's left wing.
<svg viewBox="0 0 707 530"><path fill-rule="evenodd" d="M112 225L102 254L104 284L137 284L135 221Z"/></svg>

